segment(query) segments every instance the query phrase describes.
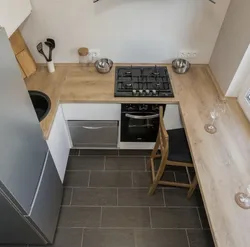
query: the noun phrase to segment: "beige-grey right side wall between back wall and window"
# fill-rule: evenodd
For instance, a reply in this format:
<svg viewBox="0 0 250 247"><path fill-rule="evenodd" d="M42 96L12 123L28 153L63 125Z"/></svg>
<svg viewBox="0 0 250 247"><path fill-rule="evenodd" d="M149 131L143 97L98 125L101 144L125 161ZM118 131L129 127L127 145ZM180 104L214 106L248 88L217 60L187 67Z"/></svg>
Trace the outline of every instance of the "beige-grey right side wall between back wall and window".
<svg viewBox="0 0 250 247"><path fill-rule="evenodd" d="M238 93L238 87L233 91L228 89L250 43L249 24L250 1L232 0L209 63L227 96L237 96Z"/></svg>

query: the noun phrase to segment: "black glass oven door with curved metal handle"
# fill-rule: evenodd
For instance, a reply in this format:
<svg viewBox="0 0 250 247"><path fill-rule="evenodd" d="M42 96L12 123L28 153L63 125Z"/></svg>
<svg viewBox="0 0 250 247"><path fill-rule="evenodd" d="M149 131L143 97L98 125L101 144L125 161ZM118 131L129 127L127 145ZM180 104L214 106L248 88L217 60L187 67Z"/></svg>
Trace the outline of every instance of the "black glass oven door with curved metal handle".
<svg viewBox="0 0 250 247"><path fill-rule="evenodd" d="M157 113L122 113L121 142L155 142L159 128Z"/></svg>

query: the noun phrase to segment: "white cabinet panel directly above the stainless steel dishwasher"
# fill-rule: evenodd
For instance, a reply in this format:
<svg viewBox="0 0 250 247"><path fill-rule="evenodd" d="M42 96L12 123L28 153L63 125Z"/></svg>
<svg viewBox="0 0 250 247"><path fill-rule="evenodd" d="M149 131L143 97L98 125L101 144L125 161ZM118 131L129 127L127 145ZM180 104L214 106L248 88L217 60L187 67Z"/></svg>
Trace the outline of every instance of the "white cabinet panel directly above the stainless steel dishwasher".
<svg viewBox="0 0 250 247"><path fill-rule="evenodd" d="M121 104L82 103L63 104L66 120L120 120Z"/></svg>

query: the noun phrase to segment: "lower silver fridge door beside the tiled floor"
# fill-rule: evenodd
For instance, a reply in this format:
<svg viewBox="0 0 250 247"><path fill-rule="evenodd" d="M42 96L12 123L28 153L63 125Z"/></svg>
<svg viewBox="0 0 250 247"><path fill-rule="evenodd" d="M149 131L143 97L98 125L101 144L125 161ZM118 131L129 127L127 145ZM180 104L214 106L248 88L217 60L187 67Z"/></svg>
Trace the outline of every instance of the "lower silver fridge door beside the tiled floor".
<svg viewBox="0 0 250 247"><path fill-rule="evenodd" d="M61 180L48 152L34 204L27 219L34 222L50 243L53 242L56 231L62 193Z"/></svg>

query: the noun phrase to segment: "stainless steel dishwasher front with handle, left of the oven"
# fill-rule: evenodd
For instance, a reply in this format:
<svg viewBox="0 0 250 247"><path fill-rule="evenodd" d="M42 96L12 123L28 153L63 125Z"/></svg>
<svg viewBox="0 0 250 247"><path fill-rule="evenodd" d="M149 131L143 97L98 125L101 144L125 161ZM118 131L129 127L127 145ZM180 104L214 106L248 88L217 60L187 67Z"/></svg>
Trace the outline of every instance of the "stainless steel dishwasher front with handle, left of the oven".
<svg viewBox="0 0 250 247"><path fill-rule="evenodd" d="M73 147L117 147L118 121L68 121Z"/></svg>

